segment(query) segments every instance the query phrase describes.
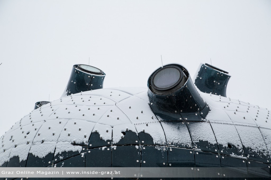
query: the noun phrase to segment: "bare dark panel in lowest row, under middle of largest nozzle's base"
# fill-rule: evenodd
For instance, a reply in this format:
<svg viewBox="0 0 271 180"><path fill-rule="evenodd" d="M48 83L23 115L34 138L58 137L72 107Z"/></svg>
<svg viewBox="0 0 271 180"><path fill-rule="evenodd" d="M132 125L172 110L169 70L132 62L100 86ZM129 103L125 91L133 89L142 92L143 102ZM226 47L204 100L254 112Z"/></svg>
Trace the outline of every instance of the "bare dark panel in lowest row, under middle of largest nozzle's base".
<svg viewBox="0 0 271 180"><path fill-rule="evenodd" d="M182 148L167 148L167 164L171 167L194 167L194 151Z"/></svg>

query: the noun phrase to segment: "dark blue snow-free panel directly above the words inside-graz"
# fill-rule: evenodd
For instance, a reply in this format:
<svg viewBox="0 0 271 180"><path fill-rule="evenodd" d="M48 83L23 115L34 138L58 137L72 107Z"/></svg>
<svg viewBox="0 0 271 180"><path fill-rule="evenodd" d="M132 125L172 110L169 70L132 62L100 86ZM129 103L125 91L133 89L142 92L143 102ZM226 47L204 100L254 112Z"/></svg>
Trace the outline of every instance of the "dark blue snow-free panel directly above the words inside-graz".
<svg viewBox="0 0 271 180"><path fill-rule="evenodd" d="M111 147L88 149L86 167L111 167Z"/></svg>

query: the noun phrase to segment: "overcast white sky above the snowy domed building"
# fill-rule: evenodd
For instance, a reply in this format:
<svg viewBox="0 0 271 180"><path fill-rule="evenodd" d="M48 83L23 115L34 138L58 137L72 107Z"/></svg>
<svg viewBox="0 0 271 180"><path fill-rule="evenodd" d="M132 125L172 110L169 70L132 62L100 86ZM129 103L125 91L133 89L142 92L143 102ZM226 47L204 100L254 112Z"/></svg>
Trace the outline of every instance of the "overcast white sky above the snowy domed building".
<svg viewBox="0 0 271 180"><path fill-rule="evenodd" d="M230 72L227 96L271 109L271 1L0 0L0 136L59 99L73 64L104 88L146 86L163 63Z"/></svg>

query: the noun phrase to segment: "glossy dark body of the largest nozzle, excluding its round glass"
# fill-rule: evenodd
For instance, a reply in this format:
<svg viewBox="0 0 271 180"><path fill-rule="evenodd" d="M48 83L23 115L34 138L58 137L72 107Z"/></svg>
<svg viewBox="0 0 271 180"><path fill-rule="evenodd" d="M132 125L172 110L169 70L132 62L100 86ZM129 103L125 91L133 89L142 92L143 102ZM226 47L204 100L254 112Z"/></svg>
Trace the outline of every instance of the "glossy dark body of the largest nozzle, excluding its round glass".
<svg viewBox="0 0 271 180"><path fill-rule="evenodd" d="M163 68L167 66L176 66L182 69L183 78L179 85L176 85L174 88L167 91L158 91L158 89L151 86L151 81L153 81L155 73L160 71L161 68L158 68L151 74L147 85L149 105L153 113L164 121L204 121L210 109L197 92L188 71L179 64L169 64Z"/></svg>

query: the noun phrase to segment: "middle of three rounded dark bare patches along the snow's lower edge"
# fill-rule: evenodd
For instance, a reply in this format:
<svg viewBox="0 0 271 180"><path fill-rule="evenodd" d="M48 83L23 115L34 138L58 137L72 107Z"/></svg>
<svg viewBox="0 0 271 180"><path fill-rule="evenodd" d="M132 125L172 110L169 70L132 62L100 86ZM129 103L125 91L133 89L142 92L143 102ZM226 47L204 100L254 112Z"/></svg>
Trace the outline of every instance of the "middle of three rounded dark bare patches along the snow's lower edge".
<svg viewBox="0 0 271 180"><path fill-rule="evenodd" d="M114 131L113 131L114 133ZM138 135L133 132L133 131L125 131L125 132L122 132L123 134L123 138L120 139L119 142L113 144L113 146L115 145L139 145L139 138L138 138ZM114 139L113 139L114 141Z"/></svg>

